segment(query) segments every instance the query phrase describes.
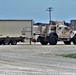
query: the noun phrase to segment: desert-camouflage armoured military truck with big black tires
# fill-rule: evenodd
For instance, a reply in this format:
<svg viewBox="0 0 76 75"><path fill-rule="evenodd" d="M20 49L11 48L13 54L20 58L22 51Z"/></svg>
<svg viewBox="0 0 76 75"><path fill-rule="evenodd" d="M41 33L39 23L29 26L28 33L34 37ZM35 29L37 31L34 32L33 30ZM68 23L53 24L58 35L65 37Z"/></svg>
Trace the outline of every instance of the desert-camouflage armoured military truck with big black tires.
<svg viewBox="0 0 76 75"><path fill-rule="evenodd" d="M40 30L37 40L42 45L56 45L58 41L70 45L71 42L76 44L76 34L66 25L46 25L43 31Z"/></svg>

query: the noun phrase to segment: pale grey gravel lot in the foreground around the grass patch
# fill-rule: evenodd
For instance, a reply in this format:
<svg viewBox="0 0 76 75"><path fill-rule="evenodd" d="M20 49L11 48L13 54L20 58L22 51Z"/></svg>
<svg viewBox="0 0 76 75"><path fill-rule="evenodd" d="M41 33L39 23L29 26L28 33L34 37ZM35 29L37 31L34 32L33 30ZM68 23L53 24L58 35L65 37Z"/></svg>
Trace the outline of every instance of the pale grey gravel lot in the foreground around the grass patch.
<svg viewBox="0 0 76 75"><path fill-rule="evenodd" d="M76 75L76 59L57 56L69 53L75 45L1 45L0 75Z"/></svg>

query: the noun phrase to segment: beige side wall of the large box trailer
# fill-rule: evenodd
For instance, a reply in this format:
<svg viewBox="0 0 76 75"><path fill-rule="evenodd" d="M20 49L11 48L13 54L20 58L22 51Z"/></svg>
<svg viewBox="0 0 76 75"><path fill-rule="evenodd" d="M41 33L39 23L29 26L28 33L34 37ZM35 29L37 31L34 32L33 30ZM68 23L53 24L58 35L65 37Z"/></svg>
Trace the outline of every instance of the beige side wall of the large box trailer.
<svg viewBox="0 0 76 75"><path fill-rule="evenodd" d="M9 37L22 36L23 29L26 28L25 37L32 36L32 20L0 20L0 35Z"/></svg>

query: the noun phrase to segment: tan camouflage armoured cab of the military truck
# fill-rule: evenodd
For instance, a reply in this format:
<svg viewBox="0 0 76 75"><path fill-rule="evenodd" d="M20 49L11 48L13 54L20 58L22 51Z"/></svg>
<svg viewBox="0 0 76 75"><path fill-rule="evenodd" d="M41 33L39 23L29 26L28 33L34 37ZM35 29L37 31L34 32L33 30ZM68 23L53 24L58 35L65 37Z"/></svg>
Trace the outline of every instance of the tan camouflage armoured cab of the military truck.
<svg viewBox="0 0 76 75"><path fill-rule="evenodd" d="M74 37L74 32L65 25L57 25L56 33L59 39L63 39L64 41L70 40Z"/></svg>

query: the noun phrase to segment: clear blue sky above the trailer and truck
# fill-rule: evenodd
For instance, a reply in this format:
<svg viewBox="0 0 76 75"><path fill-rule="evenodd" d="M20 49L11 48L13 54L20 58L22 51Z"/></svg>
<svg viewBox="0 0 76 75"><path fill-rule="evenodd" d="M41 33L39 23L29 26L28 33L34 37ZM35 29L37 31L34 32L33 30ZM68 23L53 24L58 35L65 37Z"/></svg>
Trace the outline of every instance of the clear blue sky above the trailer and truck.
<svg viewBox="0 0 76 75"><path fill-rule="evenodd" d="M0 0L0 19L33 19L47 23L48 7L53 7L52 20L76 19L76 0Z"/></svg>

